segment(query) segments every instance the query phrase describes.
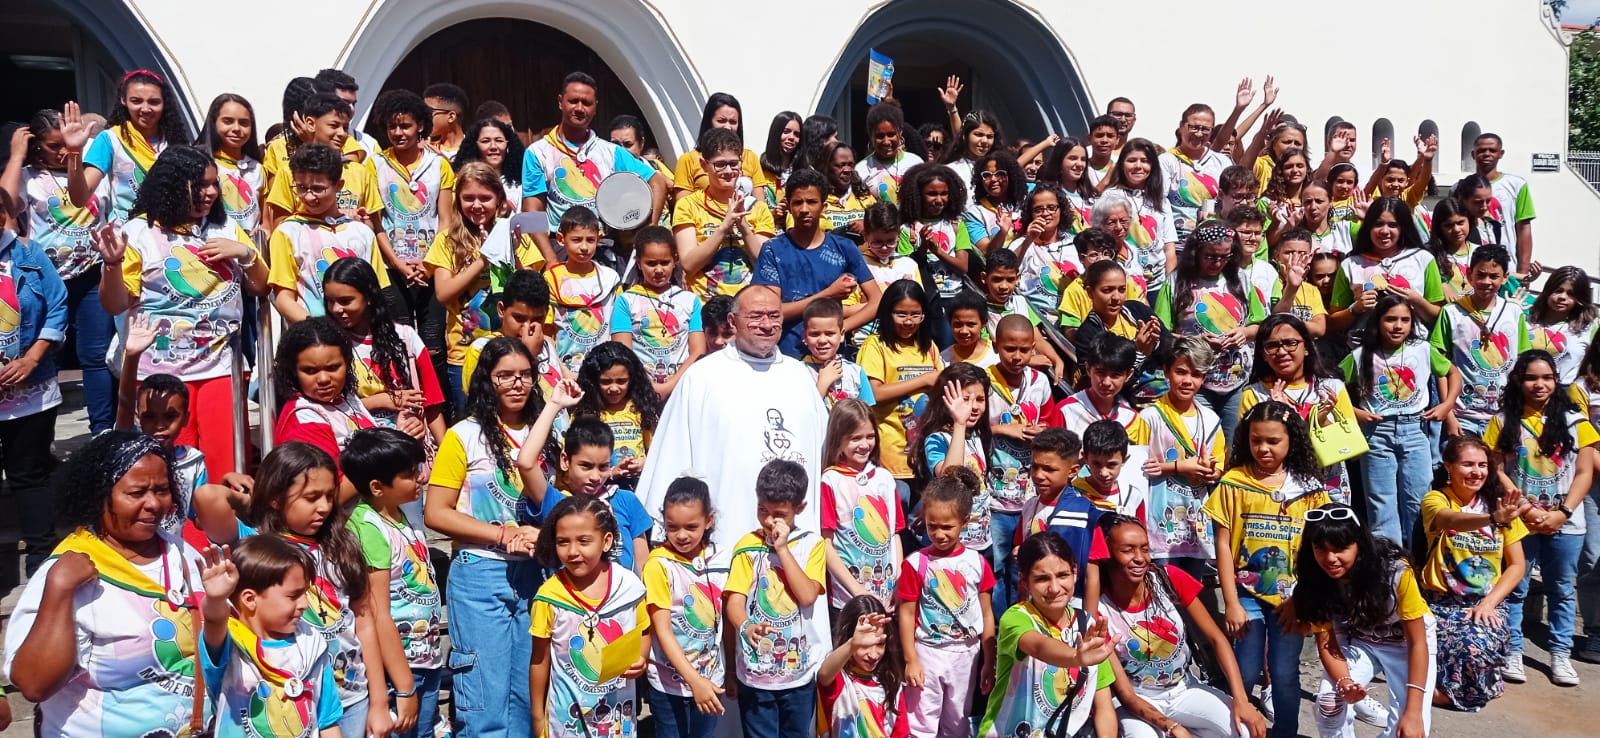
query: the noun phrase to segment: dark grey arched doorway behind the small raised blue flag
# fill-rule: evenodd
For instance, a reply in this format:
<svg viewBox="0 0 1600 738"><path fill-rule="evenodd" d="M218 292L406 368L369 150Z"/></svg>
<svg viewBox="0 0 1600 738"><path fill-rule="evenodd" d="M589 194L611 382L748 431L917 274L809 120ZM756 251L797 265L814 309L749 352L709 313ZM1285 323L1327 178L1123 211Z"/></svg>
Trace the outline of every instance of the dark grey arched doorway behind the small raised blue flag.
<svg viewBox="0 0 1600 738"><path fill-rule="evenodd" d="M816 104L858 147L866 144L869 50L894 59L894 96L915 123L949 125L936 90L950 74L966 86L960 109L994 110L1013 141L1083 134L1094 117L1070 56L1032 11L1008 0L893 0L845 45Z"/></svg>

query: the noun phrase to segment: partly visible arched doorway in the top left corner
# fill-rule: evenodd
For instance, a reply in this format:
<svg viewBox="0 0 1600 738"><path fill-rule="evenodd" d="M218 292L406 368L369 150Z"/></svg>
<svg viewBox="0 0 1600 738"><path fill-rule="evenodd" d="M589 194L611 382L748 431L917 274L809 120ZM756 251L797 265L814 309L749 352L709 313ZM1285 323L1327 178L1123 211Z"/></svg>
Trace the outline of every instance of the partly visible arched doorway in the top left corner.
<svg viewBox="0 0 1600 738"><path fill-rule="evenodd" d="M13 0L6 3L6 34L0 35L0 120L27 120L43 107L59 109L75 99L86 112L109 115L117 85L130 69L165 77L178 94L190 131L195 109L187 85L122 2Z"/></svg>

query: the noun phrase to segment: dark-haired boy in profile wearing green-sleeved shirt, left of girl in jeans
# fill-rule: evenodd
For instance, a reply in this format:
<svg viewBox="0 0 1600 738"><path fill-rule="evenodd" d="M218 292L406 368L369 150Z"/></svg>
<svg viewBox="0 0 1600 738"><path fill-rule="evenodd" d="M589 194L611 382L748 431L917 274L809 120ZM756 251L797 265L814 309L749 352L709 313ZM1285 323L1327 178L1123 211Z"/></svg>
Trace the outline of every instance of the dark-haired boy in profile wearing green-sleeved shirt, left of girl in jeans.
<svg viewBox="0 0 1600 738"><path fill-rule="evenodd" d="M360 503L350 512L350 531L362 546L368 575L387 572L389 586L371 589L373 626L387 653L398 645L406 669L395 664L395 714L411 717L405 738L432 736L438 722L438 685L445 668L445 613L438 578L422 531L400 511L421 498L422 442L392 427L358 431L339 453L339 469L355 485ZM389 664L386 663L386 669Z"/></svg>

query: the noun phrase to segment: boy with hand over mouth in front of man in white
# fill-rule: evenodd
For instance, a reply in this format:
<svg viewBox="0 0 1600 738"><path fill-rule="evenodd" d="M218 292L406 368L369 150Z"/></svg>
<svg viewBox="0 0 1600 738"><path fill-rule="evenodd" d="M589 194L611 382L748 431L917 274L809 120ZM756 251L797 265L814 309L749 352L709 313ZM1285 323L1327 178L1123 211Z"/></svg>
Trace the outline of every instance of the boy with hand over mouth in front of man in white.
<svg viewBox="0 0 1600 738"><path fill-rule="evenodd" d="M770 461L755 479L760 528L733 551L723 591L734 632L739 717L749 738L803 738L816 730L816 672L827 655L827 543L795 530L805 469Z"/></svg>

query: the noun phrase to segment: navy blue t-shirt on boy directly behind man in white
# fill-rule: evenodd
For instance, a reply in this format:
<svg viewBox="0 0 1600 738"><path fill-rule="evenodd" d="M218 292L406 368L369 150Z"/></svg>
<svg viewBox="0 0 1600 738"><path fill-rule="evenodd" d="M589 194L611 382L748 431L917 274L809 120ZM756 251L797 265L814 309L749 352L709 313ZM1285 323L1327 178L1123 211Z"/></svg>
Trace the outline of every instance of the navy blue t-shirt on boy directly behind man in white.
<svg viewBox="0 0 1600 738"><path fill-rule="evenodd" d="M867 259L861 258L861 248L850 239L824 232L822 243L816 248L800 248L789 234L782 234L762 245L750 283L778 287L784 303L798 303L826 290L845 274L854 277L858 285L872 282ZM778 343L778 349L795 359L805 359L805 343L800 339L803 330L798 315L784 320L784 338Z"/></svg>

